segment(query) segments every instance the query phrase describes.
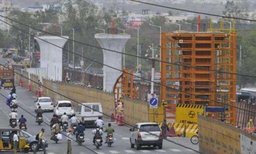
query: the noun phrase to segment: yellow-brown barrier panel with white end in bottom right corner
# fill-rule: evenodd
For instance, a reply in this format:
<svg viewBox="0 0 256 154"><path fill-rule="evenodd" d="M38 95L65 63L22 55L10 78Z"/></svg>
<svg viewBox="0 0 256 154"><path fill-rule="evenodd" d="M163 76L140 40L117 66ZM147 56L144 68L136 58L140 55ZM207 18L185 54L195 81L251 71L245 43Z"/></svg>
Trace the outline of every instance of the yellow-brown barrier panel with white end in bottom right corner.
<svg viewBox="0 0 256 154"><path fill-rule="evenodd" d="M255 154L256 136L198 115L199 151L204 154Z"/></svg>

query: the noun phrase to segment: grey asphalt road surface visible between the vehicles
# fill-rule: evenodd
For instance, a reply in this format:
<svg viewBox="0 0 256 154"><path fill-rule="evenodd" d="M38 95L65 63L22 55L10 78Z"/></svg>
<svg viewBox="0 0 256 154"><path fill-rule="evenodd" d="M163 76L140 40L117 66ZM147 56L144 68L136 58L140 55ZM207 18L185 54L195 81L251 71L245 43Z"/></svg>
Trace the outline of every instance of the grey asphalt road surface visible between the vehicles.
<svg viewBox="0 0 256 154"><path fill-rule="evenodd" d="M1 62L1 60L0 60ZM3 63L2 63L3 64ZM4 94L5 96L8 95L10 90L4 90L3 88L0 90L1 94ZM32 113L33 115L36 115L33 108L33 101L35 101L36 97L34 96L33 92L28 92L25 90L25 88L21 88L17 86L17 101L19 102L19 105L23 108L25 108L29 113ZM10 108L5 105L6 99L0 95L0 127L10 127L9 124L9 118L8 114L10 113ZM45 128L45 138L48 141L48 148L47 153L48 154L64 154L66 153L66 137L63 138L63 140L59 141L58 144L55 144L54 141L50 140L50 127L47 126L45 123L42 123L41 125L38 125L35 123L35 117L31 116L26 111L22 110L21 108L18 108L18 116L20 117L22 114L27 119L27 132L36 135L39 133L41 128ZM52 118L53 113L44 113L43 114L43 120L47 123L49 123L50 119ZM108 123L108 119L104 119L105 125ZM126 126L117 126L114 123L112 123L114 126L115 132L114 133L114 144L112 147L107 147L106 144L100 147L99 150L96 150L95 146L93 146L93 134L91 133L93 128L86 128L85 131L85 142L83 143L84 146L87 148L97 152L98 154L144 154L144 153L152 153L152 154L196 154L197 152L194 152L192 150L189 150L187 148L184 148L182 146L173 144L168 141L163 142L163 149L159 150L157 148L153 147L142 147L141 150L135 150L130 148L130 131L129 127ZM103 135L105 136L105 134ZM75 138L75 136L72 136L72 138ZM188 138L168 138L169 140L172 140L173 142L176 142L178 144L182 144L184 146L190 147L194 150L198 150L198 145L193 145L190 143ZM105 140L104 140L105 141ZM83 146L78 146L76 142L72 141L72 153L73 154L92 154L90 150L86 149ZM43 152L38 152L38 154L43 154Z"/></svg>

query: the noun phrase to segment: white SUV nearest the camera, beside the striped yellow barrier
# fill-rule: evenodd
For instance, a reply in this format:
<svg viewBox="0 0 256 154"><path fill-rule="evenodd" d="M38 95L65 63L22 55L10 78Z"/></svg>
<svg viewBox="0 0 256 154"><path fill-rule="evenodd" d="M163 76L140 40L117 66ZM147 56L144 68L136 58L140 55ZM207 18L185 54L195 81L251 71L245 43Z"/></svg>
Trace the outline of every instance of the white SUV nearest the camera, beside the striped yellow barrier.
<svg viewBox="0 0 256 154"><path fill-rule="evenodd" d="M130 129L130 147L139 150L141 146L163 147L161 128L157 123L137 123Z"/></svg>

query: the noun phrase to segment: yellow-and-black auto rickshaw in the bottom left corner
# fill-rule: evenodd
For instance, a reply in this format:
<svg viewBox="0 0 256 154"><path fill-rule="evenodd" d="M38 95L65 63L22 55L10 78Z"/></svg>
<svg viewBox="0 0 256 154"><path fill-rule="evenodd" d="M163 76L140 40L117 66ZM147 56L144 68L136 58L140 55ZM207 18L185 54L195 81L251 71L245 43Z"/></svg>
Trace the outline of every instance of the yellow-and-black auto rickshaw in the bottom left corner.
<svg viewBox="0 0 256 154"><path fill-rule="evenodd" d="M0 151L8 151L13 149L13 135L14 131L18 132L19 137L19 151L24 152L25 154L29 153L30 147L26 143L26 138L21 133L21 129L18 128L0 128Z"/></svg>

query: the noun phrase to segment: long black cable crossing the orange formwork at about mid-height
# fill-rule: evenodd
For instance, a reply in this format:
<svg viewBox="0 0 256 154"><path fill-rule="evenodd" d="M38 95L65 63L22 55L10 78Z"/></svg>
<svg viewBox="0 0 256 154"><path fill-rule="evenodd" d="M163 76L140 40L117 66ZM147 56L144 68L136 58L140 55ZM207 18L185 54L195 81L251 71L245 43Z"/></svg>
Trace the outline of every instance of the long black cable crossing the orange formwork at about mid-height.
<svg viewBox="0 0 256 154"><path fill-rule="evenodd" d="M80 41L76 41L74 39L68 39L66 37L63 37L63 36L60 36L60 35L56 35L54 33L50 33L50 32L47 32L47 31L43 31L41 29L38 29L38 28L35 28L35 27L32 27L30 25L27 25L27 24L24 24L24 23L21 23L19 21L15 21L11 18L8 18L6 16L2 16L0 15L1 17L3 18L6 18L10 21L13 21L15 23L19 23L21 25L24 25L24 26L27 26L27 27L30 27L32 29L35 29L37 31L41 31L41 32L44 32L44 33L47 33L47 34L51 34L51 35L54 35L54 36L57 36L57 37L60 37L60 38L63 38L63 39L66 39L66 40L69 40L69 41L74 41L76 43L80 43L80 44L83 44L83 45L86 45L86 46L89 46L89 47L95 47L95 48L98 48L98 49L103 49L103 50L106 50L106 51L111 51L111 52L115 52L115 53L119 53L119 54L124 54L124 55L128 55L128 56L131 56L131 57L139 57L141 59L145 59L145 60L152 60L152 59L149 59L147 57L141 57L141 56L138 56L138 55L132 55L132 54L129 54L129 53L123 53L123 52L120 52L120 51L115 51L115 50L111 50L111 49L106 49L106 48L103 48L103 47L98 47L98 46L95 46L95 45L91 45L91 44L87 44L87 43L83 43L83 42L80 42ZM33 36L33 35L31 35ZM35 37L35 36L34 36ZM234 73L234 72L226 72L226 71L221 71L221 70L213 70L213 69L207 69L207 68L201 68L201 67L196 67L196 66L190 66L190 65L186 65L186 64L180 64L180 63L172 63L172 62L166 62L166 61L161 61L161 60L154 60L155 62L161 62L161 63L166 63L166 64L172 64L172 65L177 65L177 66L184 66L184 67L188 67L188 68L196 68L196 69L199 69L199 70L207 70L207 71L213 71L213 72L219 72L219 73L224 73L224 74L233 74L233 75L237 75L237 76L246 76L246 77L250 77L250 78L256 78L256 76L252 76L252 75L248 75L248 74L241 74L241 73Z"/></svg>

